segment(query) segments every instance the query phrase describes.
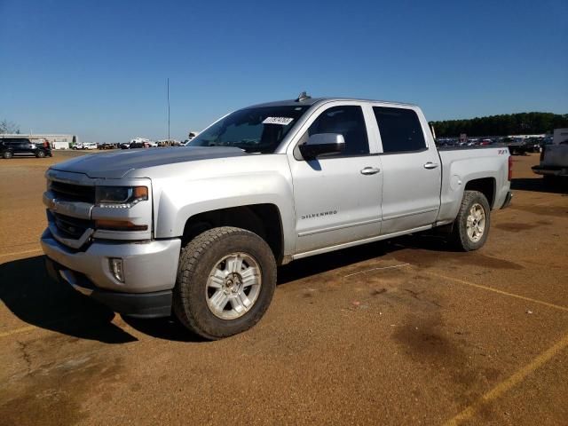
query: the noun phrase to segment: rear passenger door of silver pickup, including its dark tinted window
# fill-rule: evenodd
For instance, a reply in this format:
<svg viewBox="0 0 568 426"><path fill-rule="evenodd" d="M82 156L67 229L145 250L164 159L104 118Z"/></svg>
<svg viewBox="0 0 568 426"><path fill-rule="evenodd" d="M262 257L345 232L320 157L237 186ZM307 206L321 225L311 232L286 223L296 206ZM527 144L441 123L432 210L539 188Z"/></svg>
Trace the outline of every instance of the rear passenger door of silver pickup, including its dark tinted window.
<svg viewBox="0 0 568 426"><path fill-rule="evenodd" d="M441 167L428 123L413 107L373 106L383 153L382 234L407 231L436 221ZM426 128L424 128L426 126Z"/></svg>

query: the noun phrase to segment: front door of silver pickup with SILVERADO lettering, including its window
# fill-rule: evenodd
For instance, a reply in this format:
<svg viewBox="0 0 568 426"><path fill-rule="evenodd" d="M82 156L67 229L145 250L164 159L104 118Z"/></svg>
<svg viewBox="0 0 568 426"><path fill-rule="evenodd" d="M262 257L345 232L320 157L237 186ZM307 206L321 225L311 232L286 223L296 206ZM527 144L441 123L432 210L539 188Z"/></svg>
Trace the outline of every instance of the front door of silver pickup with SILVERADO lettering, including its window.
<svg viewBox="0 0 568 426"><path fill-rule="evenodd" d="M341 154L305 161L289 151L296 207L296 253L358 241L381 230L381 159L369 138L370 108L356 102L322 106L304 124L298 144L318 133L339 133Z"/></svg>

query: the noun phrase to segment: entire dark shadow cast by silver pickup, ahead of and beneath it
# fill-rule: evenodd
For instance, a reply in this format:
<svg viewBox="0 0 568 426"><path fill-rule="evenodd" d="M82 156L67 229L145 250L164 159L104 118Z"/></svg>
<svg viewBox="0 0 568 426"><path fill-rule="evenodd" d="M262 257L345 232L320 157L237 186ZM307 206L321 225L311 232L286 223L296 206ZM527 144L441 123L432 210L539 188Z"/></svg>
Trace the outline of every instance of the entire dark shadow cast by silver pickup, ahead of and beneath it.
<svg viewBox="0 0 568 426"><path fill-rule="evenodd" d="M282 266L278 272L278 285L408 248L432 252L453 251L443 239L424 234L378 241L300 259ZM51 280L45 272L43 259L44 256L34 256L0 264L0 300L16 317L36 327L103 343L130 343L138 340L111 322L114 312L77 293L73 288ZM177 342L205 342L174 319L122 319L130 327L155 338Z"/></svg>

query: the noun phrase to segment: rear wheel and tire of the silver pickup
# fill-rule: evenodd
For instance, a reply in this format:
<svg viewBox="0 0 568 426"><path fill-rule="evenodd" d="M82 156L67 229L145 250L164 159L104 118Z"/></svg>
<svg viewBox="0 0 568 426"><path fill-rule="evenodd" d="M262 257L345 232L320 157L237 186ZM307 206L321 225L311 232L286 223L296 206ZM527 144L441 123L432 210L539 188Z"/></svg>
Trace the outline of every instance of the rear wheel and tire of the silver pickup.
<svg viewBox="0 0 568 426"><path fill-rule="evenodd" d="M490 225L491 208L485 195L478 191L465 191L458 216L454 220L454 246L461 251L482 248L487 240Z"/></svg>

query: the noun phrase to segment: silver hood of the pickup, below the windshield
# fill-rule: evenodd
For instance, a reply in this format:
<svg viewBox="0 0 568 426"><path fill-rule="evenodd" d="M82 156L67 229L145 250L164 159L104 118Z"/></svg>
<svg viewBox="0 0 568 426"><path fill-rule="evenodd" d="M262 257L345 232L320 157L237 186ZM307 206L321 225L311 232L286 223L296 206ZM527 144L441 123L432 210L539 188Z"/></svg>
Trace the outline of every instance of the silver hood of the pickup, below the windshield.
<svg viewBox="0 0 568 426"><path fill-rule="evenodd" d="M214 158L246 155L239 148L219 146L179 146L169 148L140 148L107 154L82 155L51 166L53 170L84 173L88 177L119 179L132 170L162 166L177 162L194 162Z"/></svg>

